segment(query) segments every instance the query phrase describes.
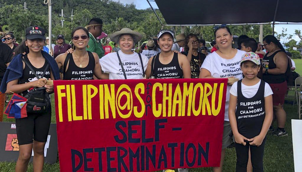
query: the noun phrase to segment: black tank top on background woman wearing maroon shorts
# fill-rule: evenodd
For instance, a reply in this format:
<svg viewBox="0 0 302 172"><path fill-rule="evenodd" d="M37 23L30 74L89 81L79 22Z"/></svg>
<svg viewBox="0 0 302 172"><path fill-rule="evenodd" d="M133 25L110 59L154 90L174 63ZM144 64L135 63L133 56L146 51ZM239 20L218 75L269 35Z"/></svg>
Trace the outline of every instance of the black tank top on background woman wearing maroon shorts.
<svg viewBox="0 0 302 172"><path fill-rule="evenodd" d="M262 59L262 66L265 69L274 69L276 68L276 64L274 62L274 56L278 53L281 52L282 50L276 51L274 54L267 56L268 53L266 53ZM284 74L279 74L279 75L274 75L274 74L265 74L263 73L262 79L269 83L269 84L277 84L277 83L282 83L286 81L286 73Z"/></svg>

